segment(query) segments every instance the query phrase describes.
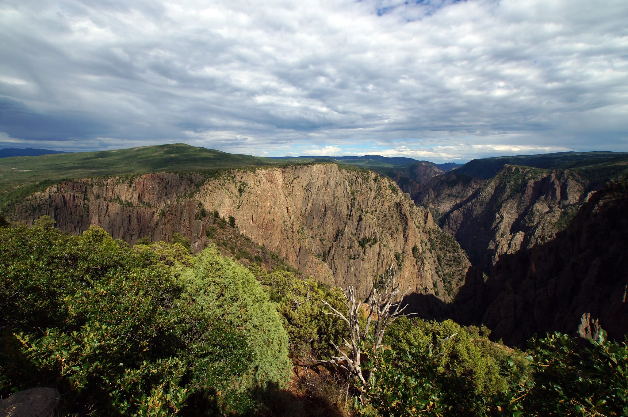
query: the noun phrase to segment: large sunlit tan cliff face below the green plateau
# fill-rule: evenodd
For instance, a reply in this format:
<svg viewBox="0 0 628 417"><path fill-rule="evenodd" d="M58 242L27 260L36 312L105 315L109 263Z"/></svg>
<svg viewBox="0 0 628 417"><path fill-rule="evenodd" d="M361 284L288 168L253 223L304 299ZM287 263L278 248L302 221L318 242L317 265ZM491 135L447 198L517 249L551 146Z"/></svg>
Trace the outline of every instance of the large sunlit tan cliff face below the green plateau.
<svg viewBox="0 0 628 417"><path fill-rule="evenodd" d="M450 302L470 265L430 212L393 181L335 164L64 181L8 215L29 224L48 214L73 234L97 224L129 243L144 236L170 241L178 232L199 251L210 224L201 209L233 216L242 234L293 267L332 285L354 285L363 296L396 263L404 287Z"/></svg>

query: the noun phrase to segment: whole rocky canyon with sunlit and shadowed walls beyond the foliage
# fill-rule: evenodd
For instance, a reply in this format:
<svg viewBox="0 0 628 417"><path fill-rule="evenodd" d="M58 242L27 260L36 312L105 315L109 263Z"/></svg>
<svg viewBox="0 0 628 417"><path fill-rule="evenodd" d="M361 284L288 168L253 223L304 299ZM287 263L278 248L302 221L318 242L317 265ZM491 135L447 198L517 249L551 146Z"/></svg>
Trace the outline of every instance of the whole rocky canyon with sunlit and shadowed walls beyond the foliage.
<svg viewBox="0 0 628 417"><path fill-rule="evenodd" d="M156 149L172 159L181 147ZM94 224L131 245L180 233L194 252L222 245L247 266L281 263L360 297L396 265L420 317L486 325L510 346L555 330L628 331L623 154L500 157L452 170L382 157L347 159L356 166L251 158L242 161L258 166L42 182L3 214L25 224L48 215L74 235ZM382 161L377 172L359 166ZM214 211L236 227L216 231Z"/></svg>

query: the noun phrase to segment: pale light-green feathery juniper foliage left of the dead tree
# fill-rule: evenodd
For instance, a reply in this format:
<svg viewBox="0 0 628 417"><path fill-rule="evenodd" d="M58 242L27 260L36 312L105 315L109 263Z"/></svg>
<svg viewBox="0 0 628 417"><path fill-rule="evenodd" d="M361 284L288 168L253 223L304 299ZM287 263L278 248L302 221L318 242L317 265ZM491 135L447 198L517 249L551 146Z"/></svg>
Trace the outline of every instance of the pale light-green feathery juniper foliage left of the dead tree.
<svg viewBox="0 0 628 417"><path fill-rule="evenodd" d="M237 390L283 385L290 378L288 334L268 294L249 270L210 247L194 258L193 266L177 272L183 299L210 311L230 328L241 328L253 352L251 364Z"/></svg>

